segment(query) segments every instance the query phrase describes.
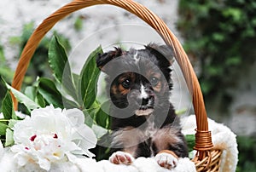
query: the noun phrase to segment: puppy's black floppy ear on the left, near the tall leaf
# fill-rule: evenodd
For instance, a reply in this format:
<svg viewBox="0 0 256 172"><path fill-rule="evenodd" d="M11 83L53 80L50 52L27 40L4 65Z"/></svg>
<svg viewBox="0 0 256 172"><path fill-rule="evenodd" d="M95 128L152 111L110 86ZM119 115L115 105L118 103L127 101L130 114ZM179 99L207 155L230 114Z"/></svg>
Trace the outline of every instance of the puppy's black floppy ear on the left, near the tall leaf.
<svg viewBox="0 0 256 172"><path fill-rule="evenodd" d="M115 48L113 51L108 51L107 53L98 54L98 57L96 58L96 66L102 71L106 72L105 65L113 60L116 57L119 57L123 55L124 52L122 49Z"/></svg>

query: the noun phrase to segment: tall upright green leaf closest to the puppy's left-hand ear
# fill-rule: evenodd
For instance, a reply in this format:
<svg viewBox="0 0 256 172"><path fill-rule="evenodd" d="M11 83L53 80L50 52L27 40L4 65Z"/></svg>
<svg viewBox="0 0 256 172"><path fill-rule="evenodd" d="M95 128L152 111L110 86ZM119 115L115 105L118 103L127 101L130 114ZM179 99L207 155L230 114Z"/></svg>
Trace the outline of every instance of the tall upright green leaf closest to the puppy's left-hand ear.
<svg viewBox="0 0 256 172"><path fill-rule="evenodd" d="M101 46L94 50L86 60L80 74L81 95L86 109L90 108L96 100L96 84L100 75L100 70L96 66L96 57L98 54L102 53L103 51Z"/></svg>

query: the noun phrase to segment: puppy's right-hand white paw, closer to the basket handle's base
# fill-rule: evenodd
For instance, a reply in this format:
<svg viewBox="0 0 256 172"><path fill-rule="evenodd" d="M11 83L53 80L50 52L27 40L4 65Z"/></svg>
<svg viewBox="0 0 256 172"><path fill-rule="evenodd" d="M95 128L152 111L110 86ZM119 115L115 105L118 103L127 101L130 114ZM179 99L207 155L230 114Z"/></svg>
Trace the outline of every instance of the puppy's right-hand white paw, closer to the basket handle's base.
<svg viewBox="0 0 256 172"><path fill-rule="evenodd" d="M177 157L170 153L162 152L155 156L155 161L163 168L172 169L177 165Z"/></svg>

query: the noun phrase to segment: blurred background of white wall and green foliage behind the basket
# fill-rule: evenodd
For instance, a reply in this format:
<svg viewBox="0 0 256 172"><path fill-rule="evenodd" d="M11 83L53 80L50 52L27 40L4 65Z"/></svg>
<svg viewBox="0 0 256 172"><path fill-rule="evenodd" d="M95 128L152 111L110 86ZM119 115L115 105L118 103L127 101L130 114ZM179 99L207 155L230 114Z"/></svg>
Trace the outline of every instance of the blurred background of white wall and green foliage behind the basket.
<svg viewBox="0 0 256 172"><path fill-rule="evenodd" d="M0 76L11 83L20 52L32 31L68 0L0 1ZM236 171L256 169L256 2L253 0L137 0L159 15L174 32L195 68L205 98L208 117L224 123L237 135L239 163ZM122 9L96 6L61 20L44 37L32 58L24 84L37 76L51 77L48 47L52 34L61 36L73 70L79 71L99 44L127 47L163 43L142 20ZM136 45L135 45L136 44ZM86 49L84 49L86 48ZM188 91L179 82L173 99L191 113ZM0 85L0 99L3 99ZM181 96L183 95L183 96ZM180 97L185 97L181 100ZM1 105L0 105L1 106Z"/></svg>

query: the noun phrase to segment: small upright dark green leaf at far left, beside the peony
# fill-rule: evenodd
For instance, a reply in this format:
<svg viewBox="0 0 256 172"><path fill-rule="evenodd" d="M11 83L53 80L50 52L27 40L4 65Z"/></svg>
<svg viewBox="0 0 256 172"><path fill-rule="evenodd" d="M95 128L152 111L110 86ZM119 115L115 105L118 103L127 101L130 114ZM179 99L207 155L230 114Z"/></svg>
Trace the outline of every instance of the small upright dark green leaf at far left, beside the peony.
<svg viewBox="0 0 256 172"><path fill-rule="evenodd" d="M15 109L13 106L12 96L10 95L9 91L6 93L5 97L3 98L2 108L3 108L3 117L5 119L11 119L11 118L17 119L15 115Z"/></svg>

